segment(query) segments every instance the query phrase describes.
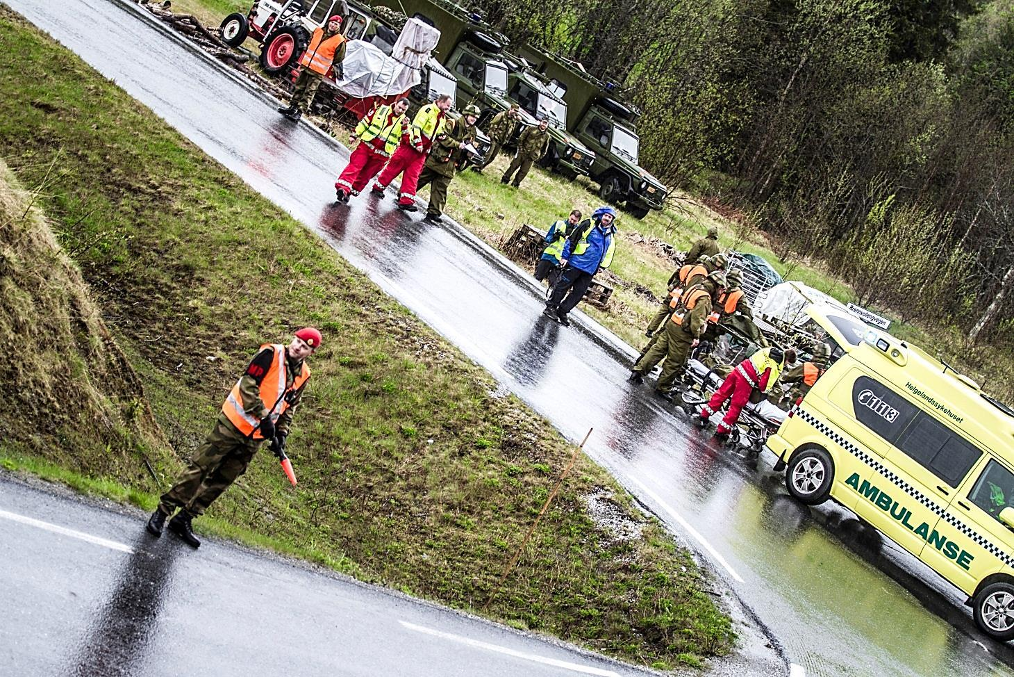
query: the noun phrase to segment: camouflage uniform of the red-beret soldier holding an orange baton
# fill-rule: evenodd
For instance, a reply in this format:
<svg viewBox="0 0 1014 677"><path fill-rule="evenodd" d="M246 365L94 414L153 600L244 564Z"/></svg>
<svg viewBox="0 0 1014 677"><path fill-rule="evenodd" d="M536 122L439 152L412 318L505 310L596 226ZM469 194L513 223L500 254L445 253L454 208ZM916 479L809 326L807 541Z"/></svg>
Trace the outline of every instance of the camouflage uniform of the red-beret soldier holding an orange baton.
<svg viewBox="0 0 1014 677"><path fill-rule="evenodd" d="M243 410L255 418L267 416L269 408L275 403L261 400L261 383L251 376L251 373L258 373L252 366L260 365L264 368L260 371L263 376L267 370L265 365L271 364L274 354L272 347L261 350L239 380ZM285 388L288 390L296 375L302 370L302 361L294 362L286 354L286 366ZM275 424L277 434L288 434L289 426L292 425L292 413L299 404L299 395L297 392L289 408L279 416ZM190 465L172 488L162 494L158 510L165 515L172 515L177 507L182 507L193 517L202 515L236 478L246 472L246 466L264 442L247 437L232 424L225 412L220 413L214 429L204 444L198 447Z"/></svg>

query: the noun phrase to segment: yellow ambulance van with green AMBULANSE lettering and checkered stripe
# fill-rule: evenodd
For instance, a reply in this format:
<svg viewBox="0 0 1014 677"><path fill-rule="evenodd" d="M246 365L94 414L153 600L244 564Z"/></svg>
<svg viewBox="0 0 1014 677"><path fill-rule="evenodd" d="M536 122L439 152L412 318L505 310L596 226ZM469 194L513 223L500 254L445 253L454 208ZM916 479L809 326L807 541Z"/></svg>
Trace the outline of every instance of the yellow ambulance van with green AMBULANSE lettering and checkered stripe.
<svg viewBox="0 0 1014 677"><path fill-rule="evenodd" d="M1014 410L914 345L811 315L840 356L768 439L789 493L853 511L1014 638Z"/></svg>

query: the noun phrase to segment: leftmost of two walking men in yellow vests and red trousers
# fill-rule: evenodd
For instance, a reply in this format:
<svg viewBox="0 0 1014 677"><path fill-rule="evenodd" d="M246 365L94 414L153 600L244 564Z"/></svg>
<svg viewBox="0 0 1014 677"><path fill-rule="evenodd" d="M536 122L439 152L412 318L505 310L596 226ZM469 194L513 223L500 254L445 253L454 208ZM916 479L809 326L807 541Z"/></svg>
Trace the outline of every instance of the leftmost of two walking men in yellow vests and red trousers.
<svg viewBox="0 0 1014 677"><path fill-rule="evenodd" d="M401 142L409 139L409 99L400 98L393 106L376 105L366 117L359 121L349 140L359 140L359 145L349 156L349 163L335 182L335 199L348 202L359 195L366 184L377 175L387 162Z"/></svg>

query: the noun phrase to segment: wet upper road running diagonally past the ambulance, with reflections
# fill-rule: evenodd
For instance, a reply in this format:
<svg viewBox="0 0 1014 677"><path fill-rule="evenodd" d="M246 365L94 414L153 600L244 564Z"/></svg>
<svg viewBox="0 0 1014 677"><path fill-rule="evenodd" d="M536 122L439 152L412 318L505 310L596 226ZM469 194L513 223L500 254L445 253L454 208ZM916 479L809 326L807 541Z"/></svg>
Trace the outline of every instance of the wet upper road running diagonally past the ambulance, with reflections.
<svg viewBox="0 0 1014 677"><path fill-rule="evenodd" d="M332 140L280 119L276 104L115 2L5 1L319 233L568 437L593 427L588 454L714 564L806 673L1014 675L1014 652L974 628L956 591L851 514L788 498L770 456L748 466L648 386L626 383L632 352L586 319L546 322L530 278L470 234L420 223L389 194L334 205L347 152Z"/></svg>

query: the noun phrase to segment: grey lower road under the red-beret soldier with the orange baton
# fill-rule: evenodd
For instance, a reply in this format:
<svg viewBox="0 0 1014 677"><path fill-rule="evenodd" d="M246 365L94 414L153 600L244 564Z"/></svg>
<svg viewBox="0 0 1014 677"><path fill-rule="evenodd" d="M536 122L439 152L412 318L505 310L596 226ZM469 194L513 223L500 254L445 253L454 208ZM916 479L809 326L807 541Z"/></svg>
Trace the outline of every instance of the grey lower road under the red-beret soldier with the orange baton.
<svg viewBox="0 0 1014 677"><path fill-rule="evenodd" d="M143 525L0 474L0 674L645 674L261 553L195 551Z"/></svg>

